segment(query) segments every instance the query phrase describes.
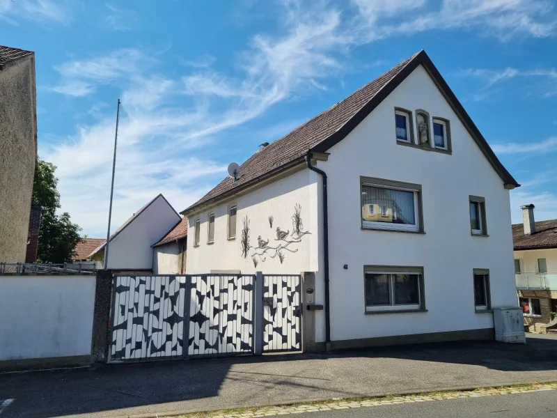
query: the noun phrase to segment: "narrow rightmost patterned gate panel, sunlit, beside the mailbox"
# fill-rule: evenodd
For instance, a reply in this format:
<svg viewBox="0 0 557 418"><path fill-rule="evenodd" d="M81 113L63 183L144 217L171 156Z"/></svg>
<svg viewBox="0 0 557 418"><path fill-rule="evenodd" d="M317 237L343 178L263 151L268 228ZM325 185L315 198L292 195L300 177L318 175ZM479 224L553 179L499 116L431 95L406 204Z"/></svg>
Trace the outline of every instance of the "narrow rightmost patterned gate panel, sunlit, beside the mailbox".
<svg viewBox="0 0 557 418"><path fill-rule="evenodd" d="M263 276L263 351L301 350L301 277Z"/></svg>

